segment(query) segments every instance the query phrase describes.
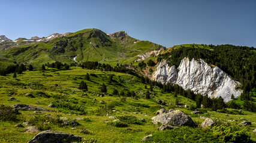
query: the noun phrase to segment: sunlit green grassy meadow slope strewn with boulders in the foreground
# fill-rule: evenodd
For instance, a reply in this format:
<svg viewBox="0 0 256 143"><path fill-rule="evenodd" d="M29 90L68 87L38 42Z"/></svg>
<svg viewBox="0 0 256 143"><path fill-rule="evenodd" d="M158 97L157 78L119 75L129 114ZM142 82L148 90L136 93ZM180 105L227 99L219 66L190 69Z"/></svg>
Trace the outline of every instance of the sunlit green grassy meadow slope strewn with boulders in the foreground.
<svg viewBox="0 0 256 143"><path fill-rule="evenodd" d="M95 138L97 142L140 142L146 135L153 133L153 136L157 138L157 136L161 136L159 134L165 133L159 132L157 130L158 126L153 125L150 120L155 116L155 111L163 107L183 111L191 116L196 125L200 125L204 120L200 116L211 117L224 126L236 125L239 129L243 128L239 125L243 120L240 119L241 117L244 120L256 122L255 114L247 111L238 111L239 114L236 114L237 110L228 109L229 113L218 113L203 109L201 110L203 111L201 115L191 114L190 108L184 108L184 105L193 107L195 101L179 94L174 97L174 92L166 93L158 88L153 88L153 92L149 92L150 99L146 99L149 85L141 83L138 77L127 73L88 70L80 67L71 68L71 70L58 70L46 67L44 71L24 71L23 74L18 74L16 78L13 78L12 74L0 76L0 104L37 105L53 110L43 111L44 114L50 114L50 118L44 114L34 113L34 111L21 110L20 113L22 114L17 116L18 120L0 122L0 130L2 130L0 142L28 142L37 133L26 133L24 128L14 128L14 126L17 123L33 122L34 120L38 120L35 126L39 126L42 130L50 129L73 133L74 135L83 136L85 139ZM87 73L89 74L89 80L86 77ZM112 76L111 82L110 76ZM78 90L82 80L88 85L88 91ZM107 94L104 97L100 97L103 83L107 85ZM147 89L145 86L147 86ZM115 89L120 95L113 95ZM31 93L35 98L26 97L25 94L27 93ZM15 100L10 100L10 97L14 97ZM179 106L175 105L176 99L179 101ZM163 100L166 104L157 104L156 100ZM52 102L57 106L56 108L47 106ZM107 114L108 116L106 116ZM70 120L78 117L85 117L85 119L77 120L80 125L76 126L77 129L71 129L73 126L61 127L54 123L59 116L67 117ZM137 119L145 119L145 122L140 124L128 122L127 127L119 128L106 123L114 120L110 119L109 116L115 116L116 118L119 116L135 116ZM234 119L238 121L227 122L227 120ZM44 122L48 123L44 124ZM256 141L256 136L252 133L255 127L255 123L244 127L253 141ZM80 132L83 128L87 129L86 133ZM200 128L189 128L189 130L192 132L201 130L203 132ZM170 132L172 134L178 133L178 130L171 130ZM176 135L181 136L181 138L184 136ZM192 133L191 135L194 134Z"/></svg>

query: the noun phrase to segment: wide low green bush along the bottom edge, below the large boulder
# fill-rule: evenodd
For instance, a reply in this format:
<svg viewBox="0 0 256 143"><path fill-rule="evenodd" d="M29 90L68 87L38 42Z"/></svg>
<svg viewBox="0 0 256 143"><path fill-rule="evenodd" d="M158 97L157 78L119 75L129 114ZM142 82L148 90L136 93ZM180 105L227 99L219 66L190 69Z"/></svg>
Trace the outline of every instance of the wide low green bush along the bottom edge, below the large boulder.
<svg viewBox="0 0 256 143"><path fill-rule="evenodd" d="M236 126L214 126L213 128L189 128L153 133L146 142L252 142L245 129Z"/></svg>

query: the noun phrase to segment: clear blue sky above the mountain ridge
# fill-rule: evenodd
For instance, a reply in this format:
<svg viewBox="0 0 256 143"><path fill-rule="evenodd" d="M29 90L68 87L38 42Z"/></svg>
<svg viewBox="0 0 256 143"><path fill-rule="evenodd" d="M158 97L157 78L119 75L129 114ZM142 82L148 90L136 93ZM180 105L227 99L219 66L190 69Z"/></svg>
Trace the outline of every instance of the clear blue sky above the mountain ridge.
<svg viewBox="0 0 256 143"><path fill-rule="evenodd" d="M0 0L0 35L12 40L97 28L166 46L256 47L255 0Z"/></svg>

